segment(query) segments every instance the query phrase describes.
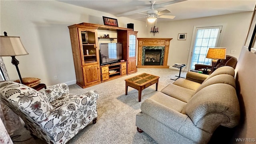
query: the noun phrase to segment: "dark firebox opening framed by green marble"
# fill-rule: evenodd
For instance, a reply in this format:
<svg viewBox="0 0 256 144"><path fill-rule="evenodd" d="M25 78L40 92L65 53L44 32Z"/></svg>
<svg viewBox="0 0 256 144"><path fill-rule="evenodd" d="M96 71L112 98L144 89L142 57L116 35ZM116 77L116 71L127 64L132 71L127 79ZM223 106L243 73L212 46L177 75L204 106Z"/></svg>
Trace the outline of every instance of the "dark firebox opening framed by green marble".
<svg viewBox="0 0 256 144"><path fill-rule="evenodd" d="M160 66L161 62L161 49L146 49L145 50L145 59L144 66Z"/></svg>

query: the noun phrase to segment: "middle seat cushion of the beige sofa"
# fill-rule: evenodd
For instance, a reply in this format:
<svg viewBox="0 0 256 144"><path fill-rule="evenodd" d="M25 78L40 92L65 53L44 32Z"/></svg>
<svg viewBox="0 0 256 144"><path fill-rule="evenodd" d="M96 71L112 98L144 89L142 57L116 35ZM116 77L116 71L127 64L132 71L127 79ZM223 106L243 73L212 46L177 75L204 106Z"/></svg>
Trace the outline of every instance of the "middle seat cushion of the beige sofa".
<svg viewBox="0 0 256 144"><path fill-rule="evenodd" d="M183 88L175 84L168 84L168 86L163 88L161 92L164 94L167 94L168 96L181 100L183 102L188 102L188 100L190 100L190 98L195 93L194 90Z"/></svg>

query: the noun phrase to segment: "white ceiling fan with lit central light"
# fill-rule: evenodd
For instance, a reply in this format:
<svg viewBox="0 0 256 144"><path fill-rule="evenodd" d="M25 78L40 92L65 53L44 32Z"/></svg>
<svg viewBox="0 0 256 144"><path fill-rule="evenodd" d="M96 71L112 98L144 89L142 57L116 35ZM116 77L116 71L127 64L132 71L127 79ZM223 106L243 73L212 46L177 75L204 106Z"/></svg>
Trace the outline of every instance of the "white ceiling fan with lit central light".
<svg viewBox="0 0 256 144"><path fill-rule="evenodd" d="M150 1L151 3L151 9L147 11L147 13L140 13L140 12L136 12L138 14L145 14L147 16L144 17L139 17L139 18L147 18L147 22L156 22L157 18L168 18L168 19L173 19L175 18L175 16L170 16L170 15L164 15L164 14L168 14L170 13L170 10L162 10L159 11L158 10L154 10L154 4L156 1Z"/></svg>

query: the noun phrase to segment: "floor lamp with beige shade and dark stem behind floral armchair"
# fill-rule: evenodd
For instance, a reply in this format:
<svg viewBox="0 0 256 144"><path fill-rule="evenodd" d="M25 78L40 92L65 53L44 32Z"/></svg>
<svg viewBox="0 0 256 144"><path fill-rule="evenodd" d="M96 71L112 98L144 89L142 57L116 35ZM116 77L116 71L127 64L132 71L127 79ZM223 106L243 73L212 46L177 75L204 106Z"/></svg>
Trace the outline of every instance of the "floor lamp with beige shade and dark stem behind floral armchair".
<svg viewBox="0 0 256 144"><path fill-rule="evenodd" d="M23 84L20 70L18 68L19 61L15 56L27 55L28 52L24 48L19 36L7 36L7 32L4 32L4 36L0 36L0 56L11 56L12 64L16 67L20 83Z"/></svg>

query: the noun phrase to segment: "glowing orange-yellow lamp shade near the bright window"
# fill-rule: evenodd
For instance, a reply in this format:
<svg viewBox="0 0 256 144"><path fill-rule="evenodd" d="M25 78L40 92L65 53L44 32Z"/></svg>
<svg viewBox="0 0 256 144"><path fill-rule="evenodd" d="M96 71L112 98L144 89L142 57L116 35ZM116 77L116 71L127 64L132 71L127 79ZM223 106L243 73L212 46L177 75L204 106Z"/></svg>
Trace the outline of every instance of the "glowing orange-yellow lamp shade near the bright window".
<svg viewBox="0 0 256 144"><path fill-rule="evenodd" d="M209 48L206 58L226 59L226 48Z"/></svg>

